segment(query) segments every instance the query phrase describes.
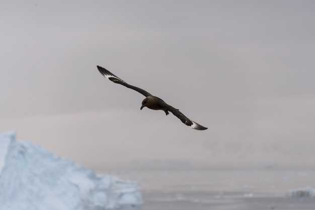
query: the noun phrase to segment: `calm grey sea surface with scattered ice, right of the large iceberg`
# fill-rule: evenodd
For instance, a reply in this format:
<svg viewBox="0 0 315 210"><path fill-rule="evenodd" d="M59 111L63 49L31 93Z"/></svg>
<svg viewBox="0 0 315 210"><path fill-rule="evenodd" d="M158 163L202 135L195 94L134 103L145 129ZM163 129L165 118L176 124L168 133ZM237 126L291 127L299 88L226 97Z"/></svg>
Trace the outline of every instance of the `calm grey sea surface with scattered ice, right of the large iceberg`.
<svg viewBox="0 0 315 210"><path fill-rule="evenodd" d="M114 170L139 183L142 210L315 209L315 197L287 197L315 187L314 169Z"/></svg>

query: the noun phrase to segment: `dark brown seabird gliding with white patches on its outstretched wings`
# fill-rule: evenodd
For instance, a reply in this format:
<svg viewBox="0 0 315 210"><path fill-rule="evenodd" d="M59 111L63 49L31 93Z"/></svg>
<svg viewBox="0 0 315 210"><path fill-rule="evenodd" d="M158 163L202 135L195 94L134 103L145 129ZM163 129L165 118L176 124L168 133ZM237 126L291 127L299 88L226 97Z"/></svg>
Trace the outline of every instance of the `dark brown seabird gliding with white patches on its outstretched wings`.
<svg viewBox="0 0 315 210"><path fill-rule="evenodd" d="M112 82L124 85L125 87L131 88L131 89L141 93L142 95L144 95L145 98L142 100L142 106L141 106L140 110L142 110L144 107L147 107L151 110L163 110L166 115L169 115L169 111L170 111L171 113L173 113L173 115L178 117L185 125L190 126L193 129L196 129L196 130L208 129L206 127L199 125L198 123L196 123L192 120L189 120L189 118L187 118L185 115L183 115L183 113L181 113L178 109L175 109L174 107L170 106L161 98L153 96L149 92L147 92L147 91L145 91L139 87L135 87L135 86L128 84L127 82L120 79L118 76L116 76L115 74L111 73L109 70L106 70L105 68L103 68L101 66L97 66L97 68L99 69L100 73L104 77L108 78Z"/></svg>

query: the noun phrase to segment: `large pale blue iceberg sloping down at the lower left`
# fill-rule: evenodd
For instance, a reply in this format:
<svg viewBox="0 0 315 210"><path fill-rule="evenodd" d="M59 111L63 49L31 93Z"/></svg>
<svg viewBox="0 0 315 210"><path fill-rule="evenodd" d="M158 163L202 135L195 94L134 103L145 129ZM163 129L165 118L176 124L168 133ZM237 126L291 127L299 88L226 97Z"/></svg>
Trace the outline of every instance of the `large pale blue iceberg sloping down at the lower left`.
<svg viewBox="0 0 315 210"><path fill-rule="evenodd" d="M100 176L16 132L0 136L0 210L101 210L142 204L135 182Z"/></svg>

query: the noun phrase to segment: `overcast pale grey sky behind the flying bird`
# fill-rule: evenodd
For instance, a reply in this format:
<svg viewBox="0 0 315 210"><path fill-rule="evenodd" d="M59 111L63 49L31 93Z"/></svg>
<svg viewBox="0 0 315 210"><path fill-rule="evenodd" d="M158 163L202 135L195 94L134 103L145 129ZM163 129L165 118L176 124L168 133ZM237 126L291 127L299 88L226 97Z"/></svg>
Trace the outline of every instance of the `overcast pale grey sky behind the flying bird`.
<svg viewBox="0 0 315 210"><path fill-rule="evenodd" d="M314 1L0 1L0 133L88 167L312 165ZM143 109L103 66L208 127Z"/></svg>

